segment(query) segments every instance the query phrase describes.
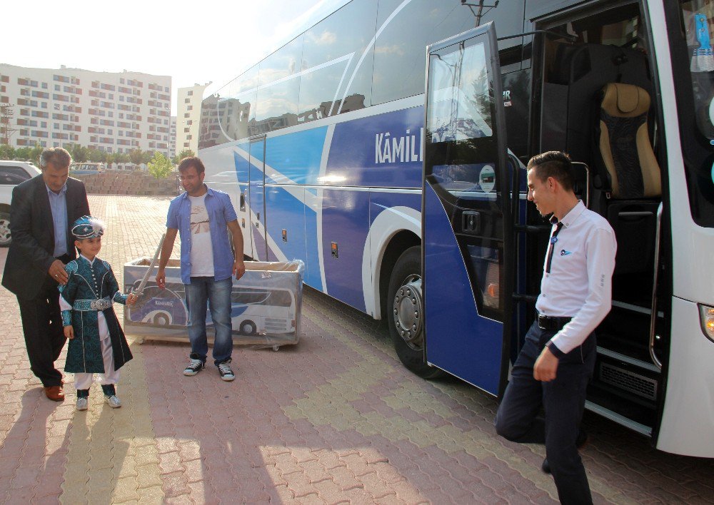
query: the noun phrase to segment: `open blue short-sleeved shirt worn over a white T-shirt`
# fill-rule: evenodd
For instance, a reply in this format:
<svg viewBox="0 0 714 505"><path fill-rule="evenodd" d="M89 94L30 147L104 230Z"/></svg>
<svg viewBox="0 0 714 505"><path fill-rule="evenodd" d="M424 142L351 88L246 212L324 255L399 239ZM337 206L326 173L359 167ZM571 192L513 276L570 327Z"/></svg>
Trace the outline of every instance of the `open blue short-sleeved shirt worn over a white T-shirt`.
<svg viewBox="0 0 714 505"><path fill-rule="evenodd" d="M238 219L238 215L227 193L206 188L206 212L213 246L213 278L218 281L233 275L234 258L227 228L228 223ZM181 237L181 282L191 284L191 200L188 200L188 193L181 193L171 200L166 228L178 230Z"/></svg>

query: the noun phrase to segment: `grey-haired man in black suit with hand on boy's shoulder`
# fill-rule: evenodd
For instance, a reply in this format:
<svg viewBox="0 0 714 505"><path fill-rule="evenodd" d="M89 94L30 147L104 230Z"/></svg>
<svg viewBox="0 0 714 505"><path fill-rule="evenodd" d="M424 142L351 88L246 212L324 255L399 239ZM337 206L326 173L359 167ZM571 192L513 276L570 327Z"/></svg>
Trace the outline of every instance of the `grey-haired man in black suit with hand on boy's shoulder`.
<svg viewBox="0 0 714 505"><path fill-rule="evenodd" d="M71 160L63 148L45 149L42 175L12 191L12 243L2 278L20 305L30 369L42 381L46 397L56 402L64 400L64 391L54 362L66 342L57 285L67 282L64 265L77 257L69 227L89 215L84 183L69 178Z"/></svg>

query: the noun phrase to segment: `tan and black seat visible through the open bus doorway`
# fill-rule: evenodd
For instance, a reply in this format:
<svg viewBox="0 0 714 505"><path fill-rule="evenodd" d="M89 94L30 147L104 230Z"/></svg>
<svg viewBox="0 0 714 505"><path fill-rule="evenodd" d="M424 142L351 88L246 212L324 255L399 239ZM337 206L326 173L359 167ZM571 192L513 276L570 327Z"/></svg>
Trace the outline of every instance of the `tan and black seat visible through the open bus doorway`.
<svg viewBox="0 0 714 505"><path fill-rule="evenodd" d="M650 96L633 84L608 83L595 125L595 164L602 209L615 230L616 273L651 271L655 216L662 195L660 167L649 138ZM598 149L599 148L599 149Z"/></svg>

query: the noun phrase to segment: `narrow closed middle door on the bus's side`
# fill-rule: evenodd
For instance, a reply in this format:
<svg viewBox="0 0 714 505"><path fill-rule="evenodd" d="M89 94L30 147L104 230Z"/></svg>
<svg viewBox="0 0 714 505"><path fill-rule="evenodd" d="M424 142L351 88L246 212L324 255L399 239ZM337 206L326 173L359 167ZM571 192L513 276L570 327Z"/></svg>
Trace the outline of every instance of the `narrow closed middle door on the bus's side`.
<svg viewBox="0 0 714 505"><path fill-rule="evenodd" d="M265 208L265 152L266 138L251 138L249 179L251 233L253 235L253 260L267 261L266 208Z"/></svg>

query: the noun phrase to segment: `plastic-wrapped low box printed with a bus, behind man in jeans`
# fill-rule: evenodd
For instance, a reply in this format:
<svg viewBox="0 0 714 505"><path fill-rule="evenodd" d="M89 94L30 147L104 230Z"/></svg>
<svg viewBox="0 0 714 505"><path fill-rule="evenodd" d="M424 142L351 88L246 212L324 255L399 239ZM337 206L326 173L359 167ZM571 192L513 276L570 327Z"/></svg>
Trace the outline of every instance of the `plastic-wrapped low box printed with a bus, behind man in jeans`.
<svg viewBox="0 0 714 505"><path fill-rule="evenodd" d="M136 290L151 258L124 264L124 292ZM133 307L124 308L124 332L144 339L188 342L188 307L178 260L166 265L166 287L156 285L158 267L149 274L144 294ZM246 273L233 277L231 322L233 344L273 347L294 345L300 335L300 311L305 265L291 262L246 261ZM213 342L213 321L206 313L208 341Z"/></svg>

